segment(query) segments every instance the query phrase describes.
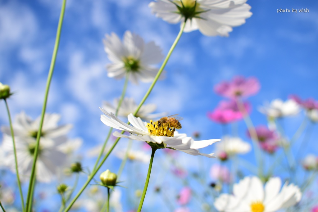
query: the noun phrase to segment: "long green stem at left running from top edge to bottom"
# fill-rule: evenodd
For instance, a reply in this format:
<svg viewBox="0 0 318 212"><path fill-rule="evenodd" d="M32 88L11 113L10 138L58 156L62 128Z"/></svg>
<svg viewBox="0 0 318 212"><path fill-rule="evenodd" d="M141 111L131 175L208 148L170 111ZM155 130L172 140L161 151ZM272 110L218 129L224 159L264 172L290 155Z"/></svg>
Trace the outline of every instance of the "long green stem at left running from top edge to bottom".
<svg viewBox="0 0 318 212"><path fill-rule="evenodd" d="M55 39L55 45L54 45L50 70L49 70L49 74L48 74L47 81L46 81L45 97L44 97L44 103L43 103L43 107L42 107L40 126L38 129L37 143L36 143L35 150L34 150L34 159L33 159L33 164L32 164L31 177L30 177L28 195L27 195L27 200L26 200L26 210L29 212L31 212L31 202L32 202L32 198L33 198L32 196L33 196L33 188L34 188L33 182L34 182L35 171L36 171L36 162L37 162L37 158L38 158L38 149L39 149L39 144L40 144L42 125L43 125L44 114L45 114L45 110L46 110L47 98L48 98L48 93L49 93L50 84L51 84L51 80L52 80L52 75L53 75L53 71L54 71L56 56L57 56L58 49L59 49L59 41L60 41L62 24L63 24L65 6L66 6L66 0L63 0L61 13L60 13L60 17L59 17L59 25L58 25L58 29L56 32L56 39Z"/></svg>

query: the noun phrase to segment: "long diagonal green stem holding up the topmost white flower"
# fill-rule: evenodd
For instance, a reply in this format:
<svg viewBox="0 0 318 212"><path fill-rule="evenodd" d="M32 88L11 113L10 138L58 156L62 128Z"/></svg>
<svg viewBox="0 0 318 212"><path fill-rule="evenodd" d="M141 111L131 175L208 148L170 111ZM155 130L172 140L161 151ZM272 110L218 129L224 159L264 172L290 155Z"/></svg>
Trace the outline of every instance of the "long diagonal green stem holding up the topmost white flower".
<svg viewBox="0 0 318 212"><path fill-rule="evenodd" d="M147 93L145 94L144 98L142 99L141 103L139 104L139 106L137 107L134 115L136 115L139 111L139 109L141 108L142 104L146 101L147 97L149 96L150 92L152 91L154 85L156 84L157 80L159 79L160 77L160 74L162 73L163 71L163 68L165 67L165 65L167 64L168 62L168 59L170 58L170 55L172 53L172 51L174 50L174 48L176 47L176 44L178 43L182 33L183 33L183 30L184 30L184 26L185 26L185 23L183 23L181 29L180 29L180 32L178 34L178 36L176 37L176 40L174 41L174 43L172 44L166 58L164 59L153 83L150 85ZM129 122L128 122L129 124ZM121 133L124 133L124 131L121 131ZM88 177L87 181L85 182L85 184L83 185L83 187L79 190L79 192L77 193L77 195L73 198L72 202L69 204L69 206L65 209L64 212L66 211L69 211L72 207L72 205L74 204L74 202L77 200L77 198L79 197L79 195L84 191L84 189L87 187L87 185L89 184L89 182L93 179L94 175L97 173L97 171L100 169L100 167L102 166L102 164L106 161L108 155L113 151L114 147L117 145L118 141L120 140L120 138L117 138L113 144L113 146L108 150L107 154L104 156L104 158L102 159L102 161L100 162L100 164L98 165L98 167L92 171L92 174Z"/></svg>

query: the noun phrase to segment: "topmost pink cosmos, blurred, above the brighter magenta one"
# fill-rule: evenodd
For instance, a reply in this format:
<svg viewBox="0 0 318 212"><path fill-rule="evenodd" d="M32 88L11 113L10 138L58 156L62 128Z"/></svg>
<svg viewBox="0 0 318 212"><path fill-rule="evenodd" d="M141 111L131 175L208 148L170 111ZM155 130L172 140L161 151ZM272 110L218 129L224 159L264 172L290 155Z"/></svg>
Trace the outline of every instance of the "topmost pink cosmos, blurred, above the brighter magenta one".
<svg viewBox="0 0 318 212"><path fill-rule="evenodd" d="M244 78L236 76L231 82L223 81L214 86L214 91L224 97L236 99L239 97L249 97L259 91L260 84L255 77Z"/></svg>

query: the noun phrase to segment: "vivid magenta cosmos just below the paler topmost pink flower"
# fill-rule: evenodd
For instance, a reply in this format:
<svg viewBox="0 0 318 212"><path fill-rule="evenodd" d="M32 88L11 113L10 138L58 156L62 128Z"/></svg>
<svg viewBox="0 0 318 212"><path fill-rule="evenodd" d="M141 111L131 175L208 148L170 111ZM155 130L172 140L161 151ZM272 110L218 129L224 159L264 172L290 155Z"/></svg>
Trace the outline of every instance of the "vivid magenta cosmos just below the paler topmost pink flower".
<svg viewBox="0 0 318 212"><path fill-rule="evenodd" d="M245 111L251 111L251 106L247 102L244 103ZM239 111L236 101L221 101L218 107L212 112L208 112L208 117L221 124L227 124L238 121L243 118L243 114Z"/></svg>

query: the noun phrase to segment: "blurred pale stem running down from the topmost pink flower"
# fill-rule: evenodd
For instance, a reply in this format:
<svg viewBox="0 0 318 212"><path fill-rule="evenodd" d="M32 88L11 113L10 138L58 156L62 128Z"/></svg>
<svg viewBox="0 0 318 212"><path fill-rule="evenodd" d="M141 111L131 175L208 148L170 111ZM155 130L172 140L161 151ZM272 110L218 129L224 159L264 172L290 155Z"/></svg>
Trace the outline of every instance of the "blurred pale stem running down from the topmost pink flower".
<svg viewBox="0 0 318 212"><path fill-rule="evenodd" d="M259 147L259 140L257 137L257 133L255 130L255 127L253 125L253 122L251 120L251 117L248 115L244 103L242 101L242 99L238 99L237 101L237 105L239 107L239 111L242 113L245 124L247 126L248 132L251 135L252 138L252 144L253 144L253 148L254 148L254 154L255 154L255 159L257 160L257 164L258 164L258 175L259 177L263 176L263 161L262 161L262 152L260 151L260 147Z"/></svg>

